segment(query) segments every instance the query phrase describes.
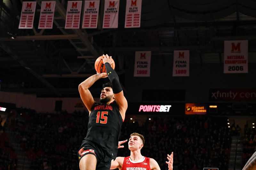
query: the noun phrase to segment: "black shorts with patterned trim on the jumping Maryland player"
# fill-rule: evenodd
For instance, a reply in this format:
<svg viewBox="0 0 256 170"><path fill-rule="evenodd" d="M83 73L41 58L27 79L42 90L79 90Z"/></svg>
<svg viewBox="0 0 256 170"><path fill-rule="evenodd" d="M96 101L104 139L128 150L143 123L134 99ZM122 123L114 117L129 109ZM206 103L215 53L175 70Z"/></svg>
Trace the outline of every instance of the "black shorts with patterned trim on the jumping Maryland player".
<svg viewBox="0 0 256 170"><path fill-rule="evenodd" d="M91 141L84 140L82 142L79 151L77 152L78 160L80 160L87 154L95 155L97 159L97 170L109 170L111 166L112 157L109 157L108 152L103 150L97 144L92 143Z"/></svg>

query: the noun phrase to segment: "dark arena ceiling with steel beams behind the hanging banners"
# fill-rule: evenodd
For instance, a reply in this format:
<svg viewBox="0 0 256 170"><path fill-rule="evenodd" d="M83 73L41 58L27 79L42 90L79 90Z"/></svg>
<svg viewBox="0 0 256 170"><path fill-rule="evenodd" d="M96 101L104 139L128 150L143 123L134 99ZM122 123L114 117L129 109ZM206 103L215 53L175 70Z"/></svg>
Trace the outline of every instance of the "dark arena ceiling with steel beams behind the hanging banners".
<svg viewBox="0 0 256 170"><path fill-rule="evenodd" d="M191 50L192 63L221 63L224 40L249 40L249 63L256 62L255 0L142 0L140 28L124 28L126 1L120 0L116 29L102 29L102 0L97 29L64 29L65 0L56 1L53 28L37 29L40 5L37 0L33 29L18 29L22 1L0 0L3 91L77 96L103 53L115 59L121 81L135 51L172 57L173 50Z"/></svg>

